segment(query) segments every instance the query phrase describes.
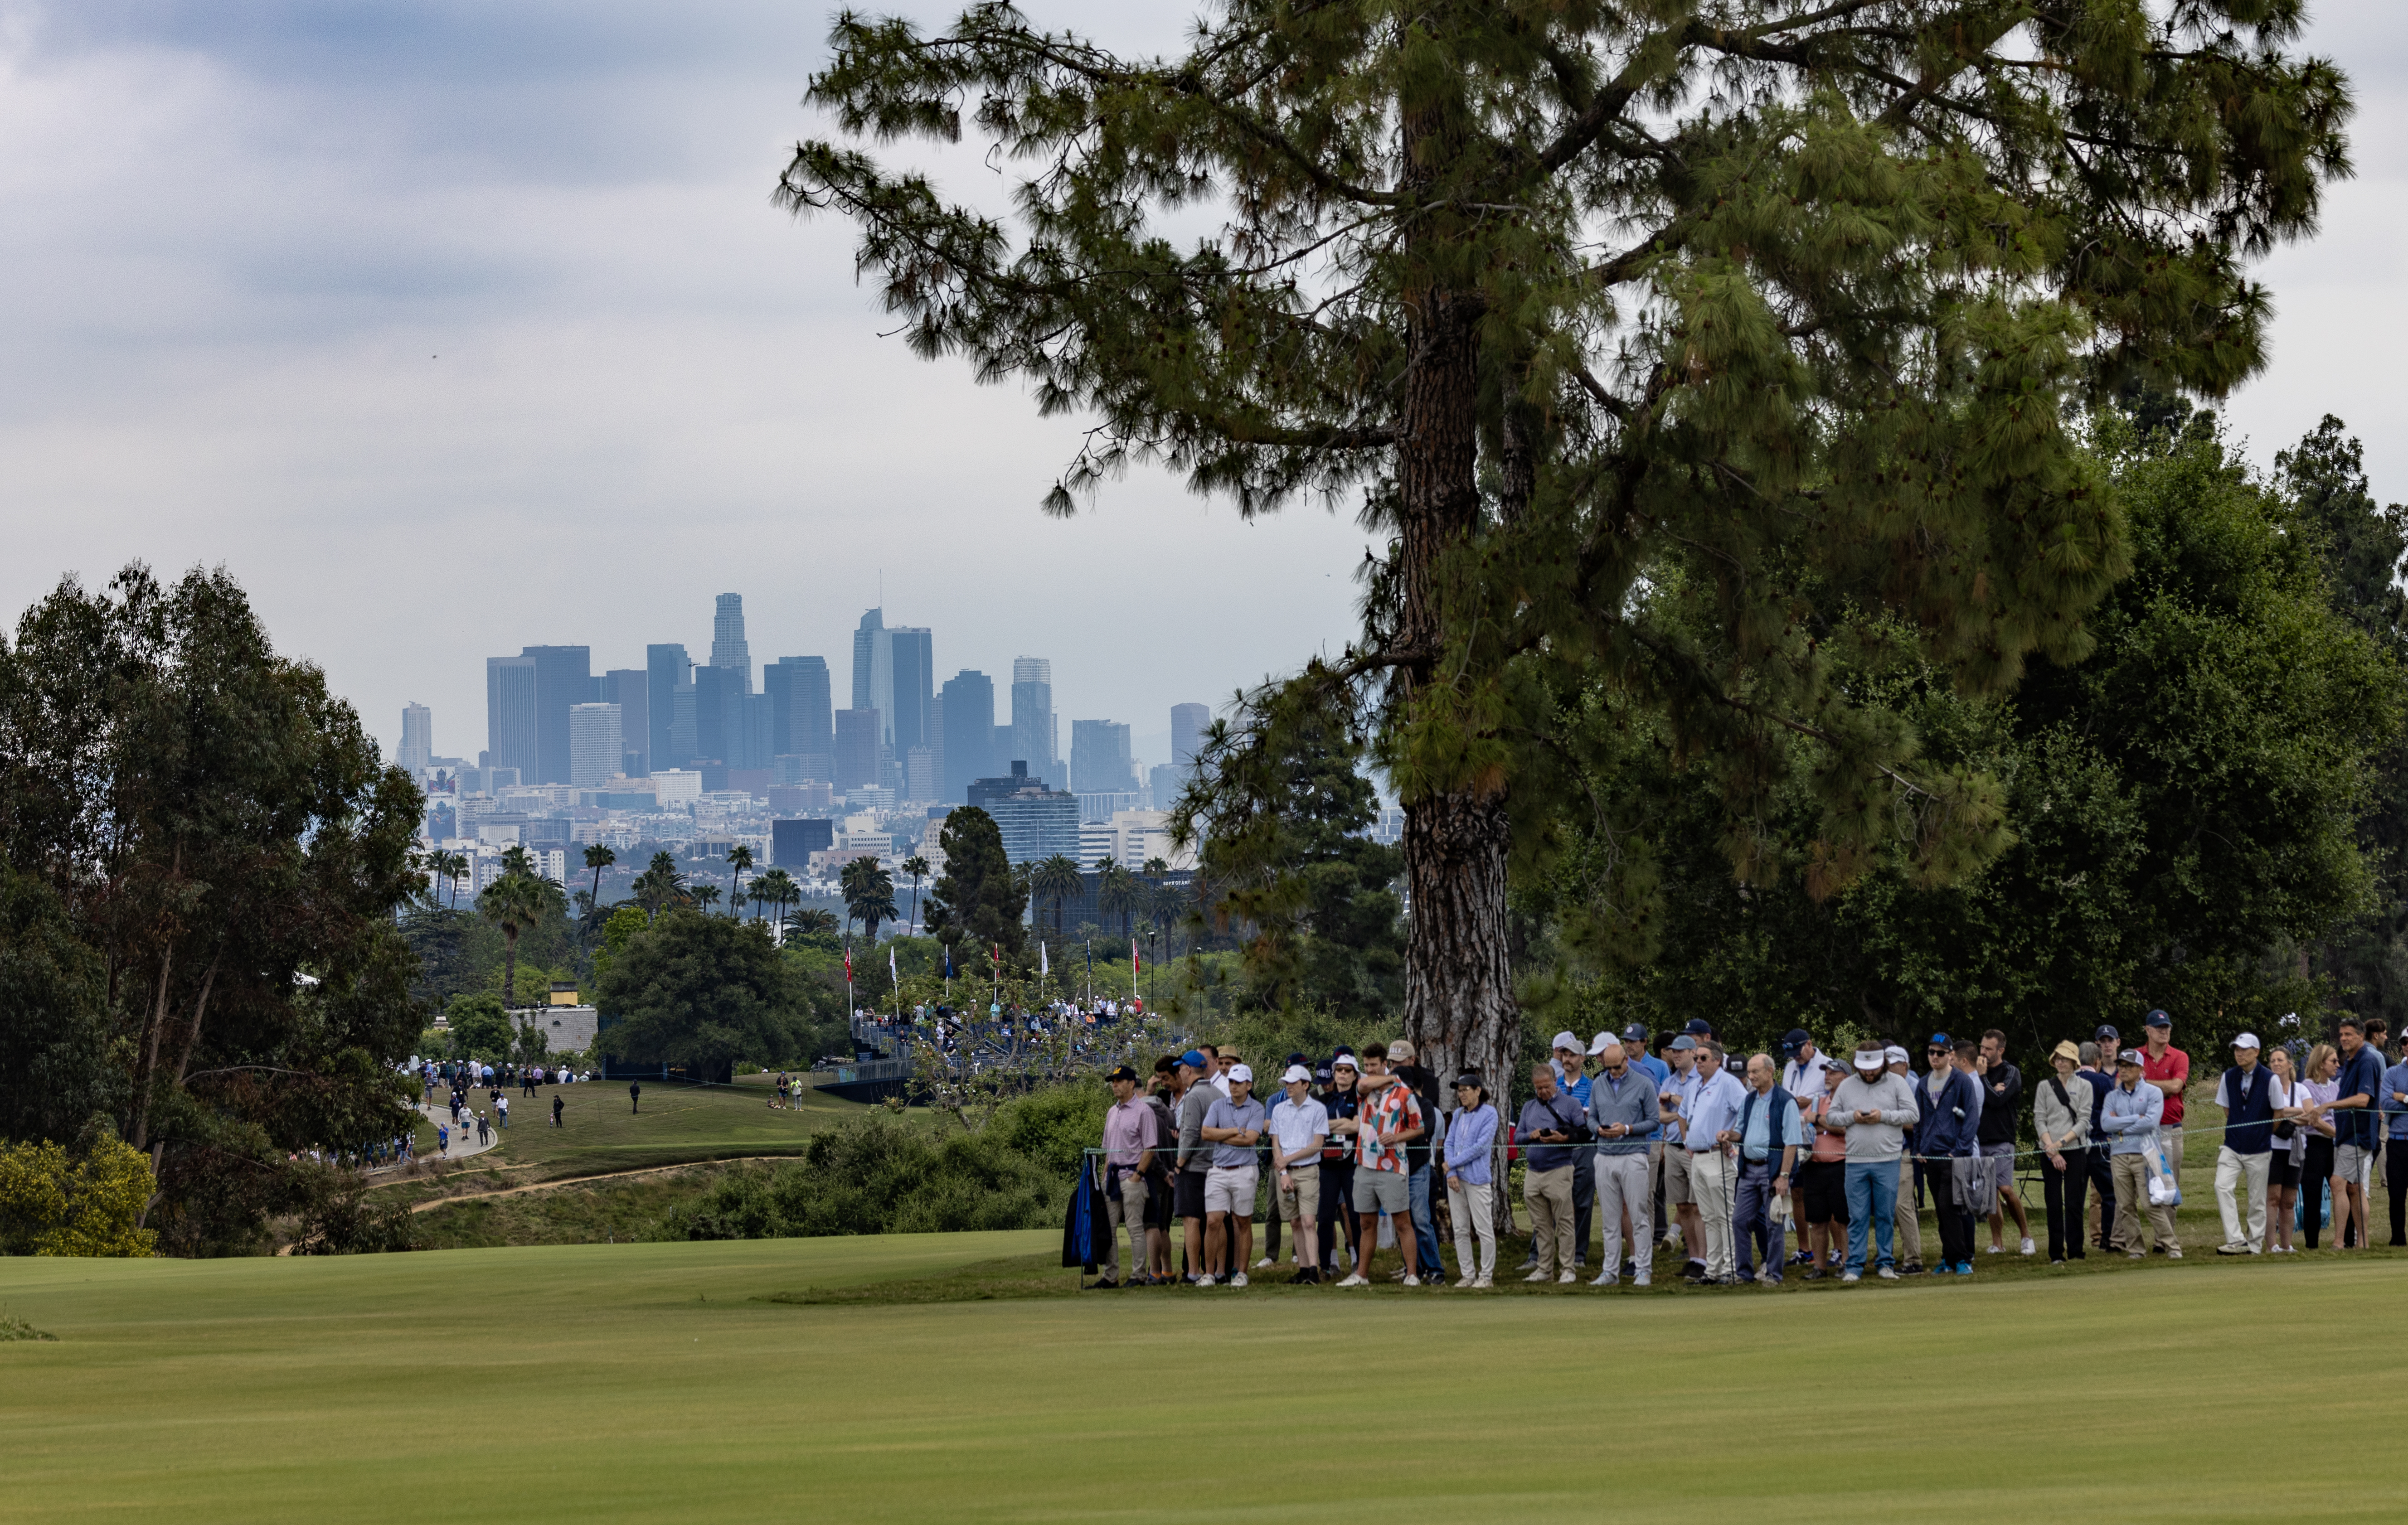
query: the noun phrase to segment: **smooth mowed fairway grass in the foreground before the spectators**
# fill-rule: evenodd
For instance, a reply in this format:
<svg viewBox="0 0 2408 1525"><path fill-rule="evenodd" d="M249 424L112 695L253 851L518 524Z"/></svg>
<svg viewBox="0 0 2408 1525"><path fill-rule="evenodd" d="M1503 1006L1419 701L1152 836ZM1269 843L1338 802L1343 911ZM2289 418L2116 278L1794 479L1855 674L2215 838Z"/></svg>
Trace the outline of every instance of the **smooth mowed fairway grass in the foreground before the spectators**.
<svg viewBox="0 0 2408 1525"><path fill-rule="evenodd" d="M1057 1233L0 1260L14 1520L2398 1520L2302 1255L1816 1296L1011 1286ZM901 1291L901 1289L898 1289Z"/></svg>

